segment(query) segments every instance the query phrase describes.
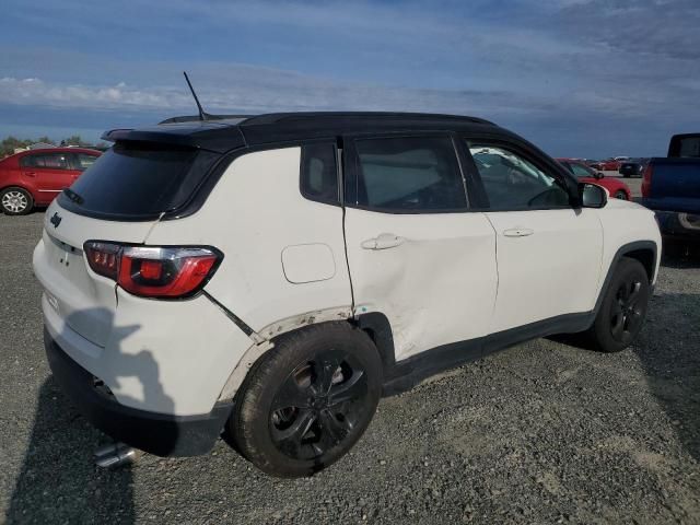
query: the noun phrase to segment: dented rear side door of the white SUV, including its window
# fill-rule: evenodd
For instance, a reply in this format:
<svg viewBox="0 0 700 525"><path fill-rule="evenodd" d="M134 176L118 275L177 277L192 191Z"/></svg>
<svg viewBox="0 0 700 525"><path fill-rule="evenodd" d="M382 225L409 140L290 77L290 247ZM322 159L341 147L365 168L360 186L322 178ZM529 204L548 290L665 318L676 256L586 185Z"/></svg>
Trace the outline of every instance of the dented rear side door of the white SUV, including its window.
<svg viewBox="0 0 700 525"><path fill-rule="evenodd" d="M347 137L343 145L355 313L386 315L397 361L486 335L495 238L469 209L454 139Z"/></svg>

